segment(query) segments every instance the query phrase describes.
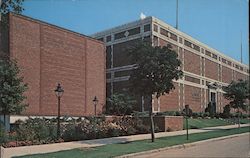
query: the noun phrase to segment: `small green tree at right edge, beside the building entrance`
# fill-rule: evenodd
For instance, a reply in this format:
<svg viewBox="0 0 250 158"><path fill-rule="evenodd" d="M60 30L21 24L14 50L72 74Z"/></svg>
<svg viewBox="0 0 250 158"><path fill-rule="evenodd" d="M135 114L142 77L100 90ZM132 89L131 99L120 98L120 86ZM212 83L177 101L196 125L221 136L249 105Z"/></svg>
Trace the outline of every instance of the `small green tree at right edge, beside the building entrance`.
<svg viewBox="0 0 250 158"><path fill-rule="evenodd" d="M232 81L227 87L224 87L223 90L225 91L224 97L230 101L228 105L231 108L237 109L238 123L240 123L240 109L247 111L249 108L247 104L247 100L249 102L249 81Z"/></svg>

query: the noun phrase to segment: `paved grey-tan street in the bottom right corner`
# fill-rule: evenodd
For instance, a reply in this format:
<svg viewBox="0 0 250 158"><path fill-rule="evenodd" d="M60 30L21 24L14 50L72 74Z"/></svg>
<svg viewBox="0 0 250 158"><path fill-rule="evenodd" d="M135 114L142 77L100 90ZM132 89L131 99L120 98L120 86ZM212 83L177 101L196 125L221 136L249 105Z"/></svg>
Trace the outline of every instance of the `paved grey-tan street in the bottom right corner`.
<svg viewBox="0 0 250 158"><path fill-rule="evenodd" d="M188 157L223 157L223 158L249 158L250 135L211 141L185 149L170 149L162 152L136 156L136 158L188 158Z"/></svg>

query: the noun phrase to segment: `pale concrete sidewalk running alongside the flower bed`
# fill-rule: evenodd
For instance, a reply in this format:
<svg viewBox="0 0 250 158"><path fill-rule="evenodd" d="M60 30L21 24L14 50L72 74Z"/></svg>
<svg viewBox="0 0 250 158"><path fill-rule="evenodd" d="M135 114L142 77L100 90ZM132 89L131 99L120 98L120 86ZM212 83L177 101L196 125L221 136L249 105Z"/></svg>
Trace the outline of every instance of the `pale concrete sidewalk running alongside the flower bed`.
<svg viewBox="0 0 250 158"><path fill-rule="evenodd" d="M241 127L247 127L250 124L242 124ZM192 133L202 133L215 131L220 129L230 129L237 128L238 125L229 125L229 126L217 126L217 127L207 127L203 129L190 129L189 134ZM186 130L174 131L174 132L160 132L155 133L156 138L184 135ZM2 148L1 147L1 158L10 158L12 156L22 156L30 154L41 154L41 153L50 153L56 151L70 150L75 148L90 148L97 147L107 144L115 143L124 143L136 140L151 139L150 134L140 134L132 136L121 136L121 137L112 137L104 139L94 139L94 140L84 140L84 141L74 141L74 142L65 142L65 143L55 143L55 144L45 144L45 145L33 145L33 146L24 146L24 147L15 147L15 148Z"/></svg>

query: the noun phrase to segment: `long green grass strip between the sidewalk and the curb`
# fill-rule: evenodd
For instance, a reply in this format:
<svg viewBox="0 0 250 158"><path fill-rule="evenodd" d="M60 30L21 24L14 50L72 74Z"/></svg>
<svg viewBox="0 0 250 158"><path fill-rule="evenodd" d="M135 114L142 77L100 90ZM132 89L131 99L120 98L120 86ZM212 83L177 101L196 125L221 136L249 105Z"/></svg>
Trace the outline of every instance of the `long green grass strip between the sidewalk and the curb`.
<svg viewBox="0 0 250 158"><path fill-rule="evenodd" d="M167 146L173 146L183 143L190 143L210 138L216 138L221 136L227 136L237 133L245 133L249 132L249 127L243 127L240 129L227 129L227 130L217 130L212 132L205 132L205 133L197 133L197 134L190 134L189 140L186 140L186 135L182 136L172 136L172 137L163 137L158 138L154 143L151 143L150 140L142 140L142 141L134 141L129 143L122 143L122 144L111 144L111 145L104 145L95 148L89 149L73 149L68 151L60 151L55 153L49 154L38 154L38 155L30 155L30 156L23 156L23 158L94 158L94 157L115 157L119 155L147 151L157 148L163 148Z"/></svg>

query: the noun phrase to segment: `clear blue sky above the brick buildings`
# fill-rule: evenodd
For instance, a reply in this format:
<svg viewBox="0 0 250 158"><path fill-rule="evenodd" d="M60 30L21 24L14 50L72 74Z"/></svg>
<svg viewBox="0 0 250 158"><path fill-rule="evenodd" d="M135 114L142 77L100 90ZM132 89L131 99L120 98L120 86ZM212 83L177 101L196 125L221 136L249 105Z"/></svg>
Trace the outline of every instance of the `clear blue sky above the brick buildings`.
<svg viewBox="0 0 250 158"><path fill-rule="evenodd" d="M249 63L248 0L179 0L179 30ZM91 35L138 20L140 13L175 26L176 0L25 0L24 15Z"/></svg>

